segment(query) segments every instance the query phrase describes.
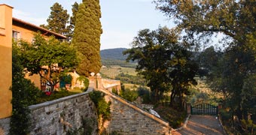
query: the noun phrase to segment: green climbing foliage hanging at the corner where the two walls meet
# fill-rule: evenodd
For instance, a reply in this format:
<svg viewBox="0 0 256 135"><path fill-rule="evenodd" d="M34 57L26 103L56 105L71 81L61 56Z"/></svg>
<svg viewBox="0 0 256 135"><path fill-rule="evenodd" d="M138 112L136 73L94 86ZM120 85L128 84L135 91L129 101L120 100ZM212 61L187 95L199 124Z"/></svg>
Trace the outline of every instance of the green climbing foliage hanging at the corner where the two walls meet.
<svg viewBox="0 0 256 135"><path fill-rule="evenodd" d="M90 99L96 106L98 118L102 117L103 121L107 120L111 116L110 105L111 102L106 102L104 98L104 93L99 91L90 92Z"/></svg>

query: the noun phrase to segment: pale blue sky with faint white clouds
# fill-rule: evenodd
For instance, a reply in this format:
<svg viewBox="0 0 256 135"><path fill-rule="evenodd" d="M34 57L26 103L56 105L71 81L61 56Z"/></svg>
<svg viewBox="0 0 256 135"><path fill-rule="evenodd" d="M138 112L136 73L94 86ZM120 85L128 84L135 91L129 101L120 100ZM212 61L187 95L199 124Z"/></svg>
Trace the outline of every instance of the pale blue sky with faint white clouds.
<svg viewBox="0 0 256 135"><path fill-rule="evenodd" d="M72 16L72 5L81 0L0 0L0 4L14 7L13 17L37 26L47 24L50 7L55 2L62 5ZM102 12L101 49L131 48L130 43L139 30L156 30L159 26L172 28L174 24L160 10L155 9L153 0L100 0Z"/></svg>

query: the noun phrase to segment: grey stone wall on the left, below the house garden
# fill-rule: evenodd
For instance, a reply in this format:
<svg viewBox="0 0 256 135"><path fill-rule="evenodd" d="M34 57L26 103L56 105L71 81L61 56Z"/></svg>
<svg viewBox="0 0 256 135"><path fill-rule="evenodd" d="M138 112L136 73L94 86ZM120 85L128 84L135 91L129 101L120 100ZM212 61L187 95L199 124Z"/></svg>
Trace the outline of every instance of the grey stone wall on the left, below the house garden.
<svg viewBox="0 0 256 135"><path fill-rule="evenodd" d="M62 135L82 126L83 118L97 119L96 108L88 93L59 98L29 107L32 110L30 134ZM93 125L96 134L97 124Z"/></svg>

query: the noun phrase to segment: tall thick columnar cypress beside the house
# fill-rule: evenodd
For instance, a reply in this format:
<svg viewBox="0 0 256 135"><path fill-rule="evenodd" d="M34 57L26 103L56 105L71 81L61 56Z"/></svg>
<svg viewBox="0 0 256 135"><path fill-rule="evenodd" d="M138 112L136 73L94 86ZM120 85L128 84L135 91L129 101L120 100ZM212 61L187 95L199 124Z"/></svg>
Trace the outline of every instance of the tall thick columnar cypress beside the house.
<svg viewBox="0 0 256 135"><path fill-rule="evenodd" d="M100 23L101 11L99 0L84 0L78 7L75 19L75 32L72 44L78 49L80 64L78 74L89 77L90 73L99 73L100 62Z"/></svg>

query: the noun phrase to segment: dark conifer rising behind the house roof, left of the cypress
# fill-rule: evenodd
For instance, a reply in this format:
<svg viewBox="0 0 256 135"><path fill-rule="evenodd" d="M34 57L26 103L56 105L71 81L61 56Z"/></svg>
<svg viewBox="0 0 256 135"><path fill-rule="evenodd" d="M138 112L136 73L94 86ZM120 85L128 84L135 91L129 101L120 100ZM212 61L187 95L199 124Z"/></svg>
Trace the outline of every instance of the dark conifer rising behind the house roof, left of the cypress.
<svg viewBox="0 0 256 135"><path fill-rule="evenodd" d="M44 28L54 31L59 34L67 35L69 33L69 28L67 24L69 23L69 13L67 10L64 10L62 5L59 5L58 2L54 3L50 7L50 16L47 19L47 25L41 25Z"/></svg>

